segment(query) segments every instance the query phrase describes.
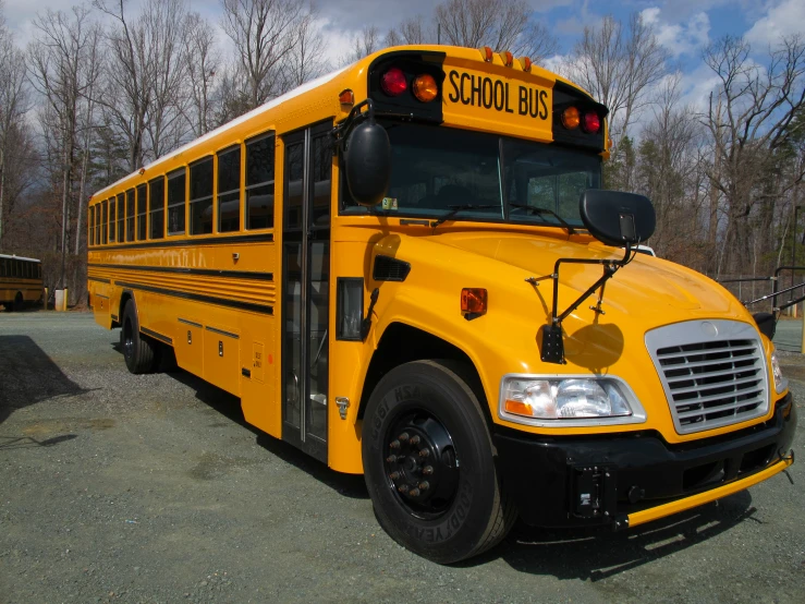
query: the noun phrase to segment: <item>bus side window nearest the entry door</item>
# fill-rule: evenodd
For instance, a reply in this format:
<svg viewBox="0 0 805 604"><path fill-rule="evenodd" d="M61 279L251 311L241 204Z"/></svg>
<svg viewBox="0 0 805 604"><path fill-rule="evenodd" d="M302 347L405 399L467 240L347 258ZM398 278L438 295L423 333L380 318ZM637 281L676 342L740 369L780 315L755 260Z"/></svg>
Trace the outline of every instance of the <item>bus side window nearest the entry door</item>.
<svg viewBox="0 0 805 604"><path fill-rule="evenodd" d="M273 227L273 134L246 141L246 228Z"/></svg>

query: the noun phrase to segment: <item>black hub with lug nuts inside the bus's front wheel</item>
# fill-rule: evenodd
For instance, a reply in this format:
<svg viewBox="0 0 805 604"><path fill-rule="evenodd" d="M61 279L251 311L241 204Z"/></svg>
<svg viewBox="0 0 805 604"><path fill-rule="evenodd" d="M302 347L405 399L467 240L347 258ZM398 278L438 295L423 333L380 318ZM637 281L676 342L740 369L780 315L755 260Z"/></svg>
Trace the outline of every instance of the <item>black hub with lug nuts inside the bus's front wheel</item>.
<svg viewBox="0 0 805 604"><path fill-rule="evenodd" d="M447 428L427 413L402 418L388 433L386 474L397 497L419 516L438 516L455 496L459 460Z"/></svg>

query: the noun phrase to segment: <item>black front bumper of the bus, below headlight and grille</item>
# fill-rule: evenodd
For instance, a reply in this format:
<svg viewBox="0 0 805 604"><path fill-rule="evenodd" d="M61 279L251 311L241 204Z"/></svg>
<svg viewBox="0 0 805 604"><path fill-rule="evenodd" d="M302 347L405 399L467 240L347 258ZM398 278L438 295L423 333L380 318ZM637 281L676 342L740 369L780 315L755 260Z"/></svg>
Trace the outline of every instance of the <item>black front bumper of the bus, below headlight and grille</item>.
<svg viewBox="0 0 805 604"><path fill-rule="evenodd" d="M499 428L498 472L524 522L606 524L744 479L788 457L796 427L791 395L768 422L669 445L656 432L546 437Z"/></svg>

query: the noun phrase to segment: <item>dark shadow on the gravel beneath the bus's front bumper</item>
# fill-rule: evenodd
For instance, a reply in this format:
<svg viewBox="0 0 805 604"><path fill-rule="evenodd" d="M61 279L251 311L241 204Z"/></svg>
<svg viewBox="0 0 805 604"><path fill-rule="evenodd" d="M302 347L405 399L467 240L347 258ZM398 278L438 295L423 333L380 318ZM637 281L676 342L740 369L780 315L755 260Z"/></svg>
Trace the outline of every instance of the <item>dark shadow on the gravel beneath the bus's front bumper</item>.
<svg viewBox="0 0 805 604"><path fill-rule="evenodd" d="M521 572L601 581L687 549L741 522L763 522L754 517L756 511L752 495L743 491L622 532L516 526L501 545L464 564L502 558Z"/></svg>

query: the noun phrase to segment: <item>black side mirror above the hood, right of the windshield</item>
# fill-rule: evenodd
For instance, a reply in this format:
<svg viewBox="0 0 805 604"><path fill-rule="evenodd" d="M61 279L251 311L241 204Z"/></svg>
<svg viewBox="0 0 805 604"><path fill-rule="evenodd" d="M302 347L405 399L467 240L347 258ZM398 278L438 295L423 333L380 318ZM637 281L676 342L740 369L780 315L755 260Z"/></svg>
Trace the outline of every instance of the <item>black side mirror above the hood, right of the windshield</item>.
<svg viewBox="0 0 805 604"><path fill-rule="evenodd" d="M644 195L588 189L578 206L584 226L607 245L636 245L654 234L654 205Z"/></svg>

